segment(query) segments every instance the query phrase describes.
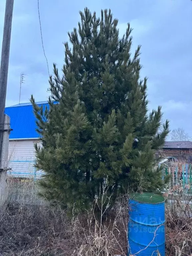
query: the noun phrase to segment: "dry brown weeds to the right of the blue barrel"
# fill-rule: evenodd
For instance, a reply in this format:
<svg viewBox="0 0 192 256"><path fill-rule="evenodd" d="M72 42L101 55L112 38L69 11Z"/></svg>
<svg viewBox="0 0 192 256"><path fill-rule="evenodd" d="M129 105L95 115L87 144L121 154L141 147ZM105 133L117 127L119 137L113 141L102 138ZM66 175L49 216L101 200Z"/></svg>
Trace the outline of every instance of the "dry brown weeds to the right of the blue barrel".
<svg viewBox="0 0 192 256"><path fill-rule="evenodd" d="M166 202L167 255L192 255L192 196L174 194Z"/></svg>

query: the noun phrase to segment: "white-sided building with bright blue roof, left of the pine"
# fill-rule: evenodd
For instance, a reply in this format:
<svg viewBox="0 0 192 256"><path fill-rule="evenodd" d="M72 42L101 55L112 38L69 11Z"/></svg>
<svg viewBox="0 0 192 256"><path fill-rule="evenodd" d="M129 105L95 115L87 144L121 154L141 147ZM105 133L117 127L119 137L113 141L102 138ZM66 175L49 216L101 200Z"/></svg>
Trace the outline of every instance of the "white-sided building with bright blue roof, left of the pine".
<svg viewBox="0 0 192 256"><path fill-rule="evenodd" d="M49 108L47 101L36 102L37 105ZM41 172L34 167L34 143L41 145L39 134L36 132L36 117L31 103L21 103L6 107L5 114L10 117L9 135L9 175L16 177L38 178Z"/></svg>

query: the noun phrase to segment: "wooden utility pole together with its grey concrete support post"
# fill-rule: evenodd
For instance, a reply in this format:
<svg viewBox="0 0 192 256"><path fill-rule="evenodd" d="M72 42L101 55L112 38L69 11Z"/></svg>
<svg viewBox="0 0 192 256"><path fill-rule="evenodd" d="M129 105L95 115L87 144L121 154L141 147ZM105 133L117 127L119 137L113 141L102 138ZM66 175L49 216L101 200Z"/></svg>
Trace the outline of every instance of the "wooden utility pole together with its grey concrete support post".
<svg viewBox="0 0 192 256"><path fill-rule="evenodd" d="M6 198L6 162L8 158L10 118L5 115L4 112L7 92L13 3L14 0L6 0L0 66L0 207L4 204Z"/></svg>

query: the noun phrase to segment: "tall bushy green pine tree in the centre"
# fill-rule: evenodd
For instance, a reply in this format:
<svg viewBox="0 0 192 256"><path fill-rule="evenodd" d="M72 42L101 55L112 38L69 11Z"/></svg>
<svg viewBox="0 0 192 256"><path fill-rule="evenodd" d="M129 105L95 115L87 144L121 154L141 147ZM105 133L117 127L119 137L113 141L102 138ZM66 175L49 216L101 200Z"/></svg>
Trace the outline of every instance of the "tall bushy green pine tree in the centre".
<svg viewBox="0 0 192 256"><path fill-rule="evenodd" d="M43 111L31 101L43 145L36 146L42 194L82 211L103 193L106 179L111 200L128 189L160 189L154 153L169 127L166 121L160 129L161 107L148 114L147 79L140 80L140 46L131 57L130 24L120 38L110 10L97 18L85 8L80 16L64 44L62 75L54 64L49 80L57 104L49 99Z"/></svg>

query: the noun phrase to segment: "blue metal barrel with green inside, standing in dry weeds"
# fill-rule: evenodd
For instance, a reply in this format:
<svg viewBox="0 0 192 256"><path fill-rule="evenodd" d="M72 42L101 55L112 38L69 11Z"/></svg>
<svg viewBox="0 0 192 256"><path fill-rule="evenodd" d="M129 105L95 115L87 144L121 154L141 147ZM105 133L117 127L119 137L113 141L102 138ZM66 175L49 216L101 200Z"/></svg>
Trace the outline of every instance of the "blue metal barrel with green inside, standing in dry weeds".
<svg viewBox="0 0 192 256"><path fill-rule="evenodd" d="M128 255L165 256L165 199L136 193L129 199Z"/></svg>

